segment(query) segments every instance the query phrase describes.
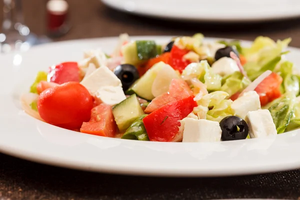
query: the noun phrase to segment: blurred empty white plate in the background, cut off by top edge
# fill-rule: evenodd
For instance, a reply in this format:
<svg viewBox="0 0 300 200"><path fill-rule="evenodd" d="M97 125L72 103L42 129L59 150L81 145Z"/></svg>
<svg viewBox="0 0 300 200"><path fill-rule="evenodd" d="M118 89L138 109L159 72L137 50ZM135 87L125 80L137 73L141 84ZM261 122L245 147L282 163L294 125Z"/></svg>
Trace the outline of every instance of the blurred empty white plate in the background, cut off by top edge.
<svg viewBox="0 0 300 200"><path fill-rule="evenodd" d="M132 14L192 21L264 21L300 16L299 0L102 0Z"/></svg>

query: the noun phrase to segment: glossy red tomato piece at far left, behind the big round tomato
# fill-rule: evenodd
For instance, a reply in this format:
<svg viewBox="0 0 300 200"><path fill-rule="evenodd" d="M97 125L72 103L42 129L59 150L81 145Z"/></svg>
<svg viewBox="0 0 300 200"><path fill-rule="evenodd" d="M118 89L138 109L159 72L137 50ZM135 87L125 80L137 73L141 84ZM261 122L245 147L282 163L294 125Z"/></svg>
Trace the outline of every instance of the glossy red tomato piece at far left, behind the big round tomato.
<svg viewBox="0 0 300 200"><path fill-rule="evenodd" d="M62 62L49 67L48 78L51 82L62 84L69 81L80 81L80 69L77 62Z"/></svg>

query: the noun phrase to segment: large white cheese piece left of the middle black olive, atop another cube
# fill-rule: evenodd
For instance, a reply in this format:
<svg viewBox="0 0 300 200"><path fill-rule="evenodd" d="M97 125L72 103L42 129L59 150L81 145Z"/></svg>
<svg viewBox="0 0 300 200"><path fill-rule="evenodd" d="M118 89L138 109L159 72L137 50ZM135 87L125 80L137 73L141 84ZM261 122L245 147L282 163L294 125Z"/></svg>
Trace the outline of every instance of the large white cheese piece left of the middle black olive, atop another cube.
<svg viewBox="0 0 300 200"><path fill-rule="evenodd" d="M106 66L100 66L80 82L94 95L102 86L122 86L116 75Z"/></svg>

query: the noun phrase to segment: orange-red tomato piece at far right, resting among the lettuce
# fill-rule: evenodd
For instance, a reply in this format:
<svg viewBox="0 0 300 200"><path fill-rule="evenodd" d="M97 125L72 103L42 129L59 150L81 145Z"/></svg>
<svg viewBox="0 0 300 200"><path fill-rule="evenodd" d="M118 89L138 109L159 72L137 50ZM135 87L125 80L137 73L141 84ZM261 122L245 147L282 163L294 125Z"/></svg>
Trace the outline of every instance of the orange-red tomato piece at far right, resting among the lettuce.
<svg viewBox="0 0 300 200"><path fill-rule="evenodd" d="M257 85L254 90L259 95L261 106L281 96L281 82L281 76L275 72L272 72Z"/></svg>

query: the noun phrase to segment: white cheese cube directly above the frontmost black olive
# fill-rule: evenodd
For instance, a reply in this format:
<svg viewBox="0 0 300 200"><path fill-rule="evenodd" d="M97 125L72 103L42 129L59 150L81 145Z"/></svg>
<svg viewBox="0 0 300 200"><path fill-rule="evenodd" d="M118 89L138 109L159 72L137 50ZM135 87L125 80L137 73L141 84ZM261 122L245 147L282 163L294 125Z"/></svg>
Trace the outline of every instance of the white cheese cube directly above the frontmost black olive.
<svg viewBox="0 0 300 200"><path fill-rule="evenodd" d="M244 119L249 111L260 109L259 95L256 91L245 92L232 102L231 108L235 115Z"/></svg>

